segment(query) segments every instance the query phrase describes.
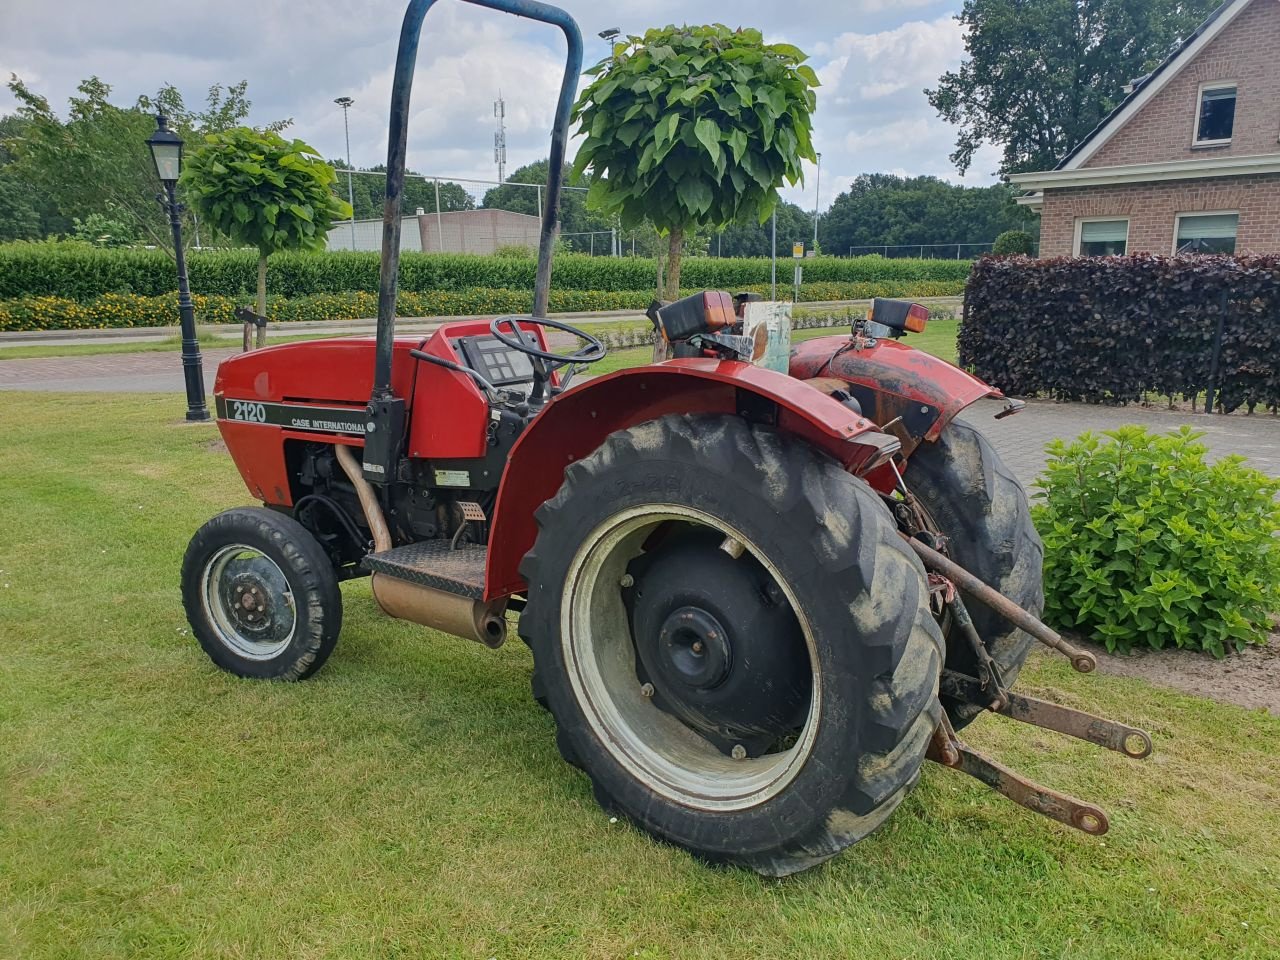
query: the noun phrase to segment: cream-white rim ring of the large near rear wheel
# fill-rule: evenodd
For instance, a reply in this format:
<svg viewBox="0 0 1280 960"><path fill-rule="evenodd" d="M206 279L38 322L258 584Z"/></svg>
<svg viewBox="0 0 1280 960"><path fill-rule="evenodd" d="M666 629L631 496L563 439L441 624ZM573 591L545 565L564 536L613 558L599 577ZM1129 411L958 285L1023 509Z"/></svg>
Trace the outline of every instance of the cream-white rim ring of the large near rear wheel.
<svg viewBox="0 0 1280 960"><path fill-rule="evenodd" d="M653 527L672 520L732 536L760 562L791 604L813 672L809 714L791 748L732 759L641 692L620 580ZM632 507L596 526L564 577L559 632L570 685L593 732L634 778L668 800L714 812L756 806L791 783L813 753L822 687L813 631L790 585L764 552L740 530L703 511L669 503Z"/></svg>

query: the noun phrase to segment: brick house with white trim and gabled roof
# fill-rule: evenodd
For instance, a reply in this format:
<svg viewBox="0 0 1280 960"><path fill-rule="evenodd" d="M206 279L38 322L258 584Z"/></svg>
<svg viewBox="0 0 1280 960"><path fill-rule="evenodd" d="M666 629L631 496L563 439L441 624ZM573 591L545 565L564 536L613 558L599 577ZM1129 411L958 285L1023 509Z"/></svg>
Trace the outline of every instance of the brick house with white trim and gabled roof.
<svg viewBox="0 0 1280 960"><path fill-rule="evenodd" d="M1226 0L1052 170L1041 256L1280 252L1280 0Z"/></svg>

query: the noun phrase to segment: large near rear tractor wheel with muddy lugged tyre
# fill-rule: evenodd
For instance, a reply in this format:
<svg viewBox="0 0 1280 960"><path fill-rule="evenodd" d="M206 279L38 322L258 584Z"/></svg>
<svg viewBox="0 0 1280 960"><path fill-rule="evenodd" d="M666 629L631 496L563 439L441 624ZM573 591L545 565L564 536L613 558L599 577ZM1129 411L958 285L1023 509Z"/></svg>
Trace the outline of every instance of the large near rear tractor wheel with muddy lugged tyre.
<svg viewBox="0 0 1280 960"><path fill-rule="evenodd" d="M923 567L838 463L737 417L668 416L570 466L538 525L520 630L605 809L786 876L914 786L942 636Z"/></svg>

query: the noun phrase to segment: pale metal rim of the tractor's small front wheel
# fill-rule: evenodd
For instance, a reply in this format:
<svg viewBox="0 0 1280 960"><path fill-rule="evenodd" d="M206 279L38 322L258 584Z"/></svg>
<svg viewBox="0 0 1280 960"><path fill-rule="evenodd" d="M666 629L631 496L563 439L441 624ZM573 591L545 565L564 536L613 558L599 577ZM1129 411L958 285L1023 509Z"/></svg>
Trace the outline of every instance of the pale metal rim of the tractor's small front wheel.
<svg viewBox="0 0 1280 960"><path fill-rule="evenodd" d="M289 581L261 550L229 544L205 563L201 602L214 634L251 660L270 660L293 641L298 612Z"/></svg>

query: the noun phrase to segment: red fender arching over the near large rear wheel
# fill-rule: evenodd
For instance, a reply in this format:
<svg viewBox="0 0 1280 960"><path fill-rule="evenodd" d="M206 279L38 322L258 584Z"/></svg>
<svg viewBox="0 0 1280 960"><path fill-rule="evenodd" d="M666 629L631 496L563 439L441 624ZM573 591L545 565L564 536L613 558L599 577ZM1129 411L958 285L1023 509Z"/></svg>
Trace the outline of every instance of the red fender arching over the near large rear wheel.
<svg viewBox="0 0 1280 960"><path fill-rule="evenodd" d="M730 413L773 422L855 474L899 449L896 439L842 403L750 364L669 360L590 380L548 403L511 451L494 506L485 599L525 589L518 567L538 535L534 512L556 495L564 467L609 434L668 413Z"/></svg>

